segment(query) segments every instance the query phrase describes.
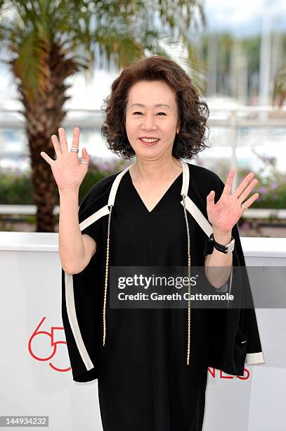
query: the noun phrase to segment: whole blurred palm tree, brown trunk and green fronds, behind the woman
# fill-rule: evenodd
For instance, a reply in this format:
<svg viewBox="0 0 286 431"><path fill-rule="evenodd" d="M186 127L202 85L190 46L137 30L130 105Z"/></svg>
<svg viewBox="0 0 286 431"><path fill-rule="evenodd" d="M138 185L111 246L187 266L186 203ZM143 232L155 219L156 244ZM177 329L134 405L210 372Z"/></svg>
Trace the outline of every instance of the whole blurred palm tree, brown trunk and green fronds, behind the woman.
<svg viewBox="0 0 286 431"><path fill-rule="evenodd" d="M91 74L98 48L108 68L111 60L120 69L144 55L168 57L160 46L163 37L186 45L188 65L195 73L189 35L190 25L197 27L195 11L205 25L201 0L0 0L0 11L0 44L11 54L5 62L25 118L36 231L53 232L56 182L40 152L55 159L51 135L66 115L66 78L79 71ZM164 32L158 30L162 27Z"/></svg>

